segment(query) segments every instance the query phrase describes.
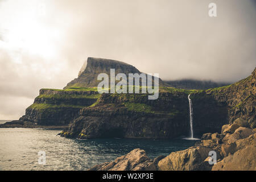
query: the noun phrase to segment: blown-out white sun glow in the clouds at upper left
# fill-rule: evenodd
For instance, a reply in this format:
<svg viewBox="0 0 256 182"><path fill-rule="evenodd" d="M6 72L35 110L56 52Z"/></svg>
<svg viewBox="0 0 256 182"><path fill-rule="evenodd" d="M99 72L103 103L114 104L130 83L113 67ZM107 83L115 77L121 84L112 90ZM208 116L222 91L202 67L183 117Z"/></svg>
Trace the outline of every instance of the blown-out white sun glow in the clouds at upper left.
<svg viewBox="0 0 256 182"><path fill-rule="evenodd" d="M47 59L53 58L57 51L54 43L60 38L60 32L46 26L43 22L44 17L40 16L37 7L36 3L24 6L24 9L16 14L9 14L11 20L3 19L0 27L5 30L3 42L9 49ZM8 6L6 8L8 9ZM15 9L15 7L9 8Z"/></svg>

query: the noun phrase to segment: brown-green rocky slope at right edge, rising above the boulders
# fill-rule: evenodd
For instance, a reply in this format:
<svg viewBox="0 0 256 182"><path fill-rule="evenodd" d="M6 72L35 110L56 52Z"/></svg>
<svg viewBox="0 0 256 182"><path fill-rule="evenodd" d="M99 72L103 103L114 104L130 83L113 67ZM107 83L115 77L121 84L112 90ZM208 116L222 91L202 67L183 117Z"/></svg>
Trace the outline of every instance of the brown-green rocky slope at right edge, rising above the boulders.
<svg viewBox="0 0 256 182"><path fill-rule="evenodd" d="M255 128L256 115L256 68L251 75L232 85L206 90L206 94L228 108L228 121L246 119Z"/></svg>

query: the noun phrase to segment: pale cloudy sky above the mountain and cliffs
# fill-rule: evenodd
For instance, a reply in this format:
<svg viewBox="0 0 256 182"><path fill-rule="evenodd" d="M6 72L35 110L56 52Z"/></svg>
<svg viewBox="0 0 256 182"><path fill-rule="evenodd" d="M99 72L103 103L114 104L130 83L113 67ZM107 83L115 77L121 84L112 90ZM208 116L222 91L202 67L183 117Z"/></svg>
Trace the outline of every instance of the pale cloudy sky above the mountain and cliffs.
<svg viewBox="0 0 256 182"><path fill-rule="evenodd" d="M63 88L87 57L163 80L236 82L255 68L255 19L255 0L0 0L0 119Z"/></svg>

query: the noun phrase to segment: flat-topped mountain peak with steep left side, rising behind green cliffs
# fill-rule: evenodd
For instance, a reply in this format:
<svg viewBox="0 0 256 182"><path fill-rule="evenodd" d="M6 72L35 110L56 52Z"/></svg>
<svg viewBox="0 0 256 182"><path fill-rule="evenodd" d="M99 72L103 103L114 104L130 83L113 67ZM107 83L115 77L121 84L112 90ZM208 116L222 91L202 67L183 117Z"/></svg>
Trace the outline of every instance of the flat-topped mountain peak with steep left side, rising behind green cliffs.
<svg viewBox="0 0 256 182"><path fill-rule="evenodd" d="M97 77L100 73L106 73L110 75L110 69L115 69L115 74L125 73L128 77L129 73L138 73L141 74L137 68L133 65L124 63L122 61L111 60L111 59L102 59L88 57L87 63L83 65L79 73L79 77L75 78L64 87L64 89L73 88L73 87L97 87L100 81L97 80ZM84 69L86 65L86 68ZM167 83L163 82L159 78L159 86L170 86Z"/></svg>

